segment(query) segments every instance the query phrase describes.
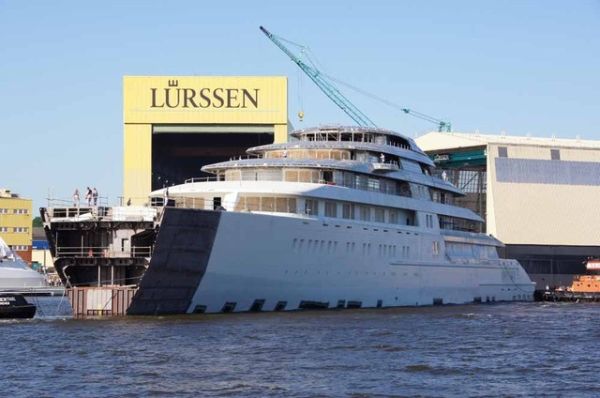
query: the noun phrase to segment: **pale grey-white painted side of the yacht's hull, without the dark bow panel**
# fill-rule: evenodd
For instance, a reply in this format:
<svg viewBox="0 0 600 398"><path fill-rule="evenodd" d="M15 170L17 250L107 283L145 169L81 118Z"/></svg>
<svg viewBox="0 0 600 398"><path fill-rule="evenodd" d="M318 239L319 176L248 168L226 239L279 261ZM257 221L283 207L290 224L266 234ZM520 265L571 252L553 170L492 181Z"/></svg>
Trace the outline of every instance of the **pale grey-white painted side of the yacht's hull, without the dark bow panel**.
<svg viewBox="0 0 600 398"><path fill-rule="evenodd" d="M303 301L370 308L533 300L534 284L517 261L444 253L439 230L223 212L187 312L222 312L226 303L249 311L255 300L264 300L262 311L278 302L297 310Z"/></svg>

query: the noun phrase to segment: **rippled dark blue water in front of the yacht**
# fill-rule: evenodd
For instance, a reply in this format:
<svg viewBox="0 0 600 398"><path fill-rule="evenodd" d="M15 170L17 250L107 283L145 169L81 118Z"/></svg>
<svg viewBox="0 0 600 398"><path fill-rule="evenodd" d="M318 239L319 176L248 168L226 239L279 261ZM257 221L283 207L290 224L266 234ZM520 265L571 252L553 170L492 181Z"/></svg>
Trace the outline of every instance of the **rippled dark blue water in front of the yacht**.
<svg viewBox="0 0 600 398"><path fill-rule="evenodd" d="M11 397L600 396L600 305L0 323Z"/></svg>

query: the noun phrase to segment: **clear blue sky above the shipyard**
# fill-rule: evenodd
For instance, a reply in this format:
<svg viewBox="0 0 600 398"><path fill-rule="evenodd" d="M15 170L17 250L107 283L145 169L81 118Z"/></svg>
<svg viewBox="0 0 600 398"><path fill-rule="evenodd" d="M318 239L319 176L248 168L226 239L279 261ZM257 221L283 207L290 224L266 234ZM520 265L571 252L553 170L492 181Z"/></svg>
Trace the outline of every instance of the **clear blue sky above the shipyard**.
<svg viewBox="0 0 600 398"><path fill-rule="evenodd" d="M0 186L34 207L120 195L123 75L286 75L295 127L350 124L259 25L456 131L600 139L599 1L0 0ZM432 128L345 93L381 127Z"/></svg>

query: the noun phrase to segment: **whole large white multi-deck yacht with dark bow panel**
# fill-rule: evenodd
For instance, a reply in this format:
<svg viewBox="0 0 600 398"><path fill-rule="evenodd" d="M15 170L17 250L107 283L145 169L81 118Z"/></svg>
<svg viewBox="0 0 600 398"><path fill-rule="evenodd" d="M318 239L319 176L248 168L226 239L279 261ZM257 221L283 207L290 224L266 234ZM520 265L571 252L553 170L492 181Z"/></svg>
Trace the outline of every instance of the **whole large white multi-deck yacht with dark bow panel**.
<svg viewBox="0 0 600 398"><path fill-rule="evenodd" d="M128 313L161 312L186 283L188 313L533 300L520 264L453 205L462 193L411 138L318 127L247 152L151 194L178 211L162 213ZM176 267L187 274L165 282Z"/></svg>

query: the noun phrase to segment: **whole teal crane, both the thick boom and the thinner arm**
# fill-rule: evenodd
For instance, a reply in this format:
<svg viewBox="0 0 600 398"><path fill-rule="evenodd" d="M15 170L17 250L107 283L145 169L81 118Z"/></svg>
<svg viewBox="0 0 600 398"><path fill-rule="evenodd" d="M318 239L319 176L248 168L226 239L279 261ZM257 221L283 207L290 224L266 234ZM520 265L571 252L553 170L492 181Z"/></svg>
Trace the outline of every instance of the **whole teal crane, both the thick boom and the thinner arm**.
<svg viewBox="0 0 600 398"><path fill-rule="evenodd" d="M381 101L389 106L400 109L402 112L406 113L407 115L411 115L413 117L416 117L416 118L419 118L422 120L426 120L431 123L435 123L438 126L438 131L452 131L452 125L450 124L450 122L445 122L445 121L437 119L433 116L429 116L429 115L426 115L421 112L413 111L412 109L409 109L409 108L400 107L390 101L379 98L373 94L369 94L369 93L365 92L364 90L358 89L347 83L343 83L331 76L328 76L328 75L322 73L314 65L313 66L307 65L304 61L302 61L300 59L299 56L295 55L292 51L290 51L290 49L288 49L283 44L283 42L285 41L285 42L294 44L294 45L302 48L303 51L305 49L304 46L293 43L282 37L276 36L276 35L272 34L271 32L269 32L267 29L265 29L263 26L260 27L260 30L265 34L265 36L267 36L269 38L269 40L271 40L277 47L279 47L281 49L281 51L283 51L288 57L290 57L290 59L292 61L294 61L294 63L296 65L298 65L298 67L300 69L302 69L302 71L304 73L306 73L308 75L308 77L310 77L310 79L317 85L317 87L319 87L321 89L321 91L323 91L323 93L325 93L325 95L327 97L329 97L337 106L339 106L344 112L346 112L346 114L348 116L350 116L352 118L352 120L354 120L359 126L377 127L375 125L375 123L373 123L373 121L371 119L369 119L369 117L367 115L362 113L360 109L358 109L352 102L350 102L350 100L348 98L346 98L335 87L335 85L331 81L336 81L340 84L350 87L351 89L353 89L355 91L358 91L364 95L367 95L371 98ZM301 115L301 117L302 117L302 115Z"/></svg>

